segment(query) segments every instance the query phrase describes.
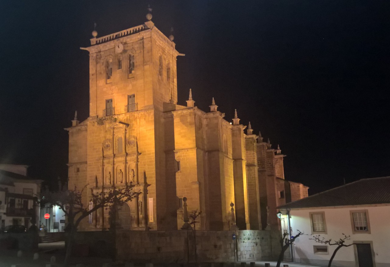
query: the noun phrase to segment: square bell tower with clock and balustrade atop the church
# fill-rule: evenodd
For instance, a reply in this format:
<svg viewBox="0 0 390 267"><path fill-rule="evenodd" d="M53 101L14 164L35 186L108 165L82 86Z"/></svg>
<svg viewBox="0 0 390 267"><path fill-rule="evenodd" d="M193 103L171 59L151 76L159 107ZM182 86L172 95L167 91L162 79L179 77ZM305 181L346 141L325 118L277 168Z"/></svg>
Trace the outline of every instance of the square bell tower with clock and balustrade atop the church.
<svg viewBox="0 0 390 267"><path fill-rule="evenodd" d="M106 117L177 103L173 35L166 37L152 22L97 37L89 51L90 117Z"/></svg>

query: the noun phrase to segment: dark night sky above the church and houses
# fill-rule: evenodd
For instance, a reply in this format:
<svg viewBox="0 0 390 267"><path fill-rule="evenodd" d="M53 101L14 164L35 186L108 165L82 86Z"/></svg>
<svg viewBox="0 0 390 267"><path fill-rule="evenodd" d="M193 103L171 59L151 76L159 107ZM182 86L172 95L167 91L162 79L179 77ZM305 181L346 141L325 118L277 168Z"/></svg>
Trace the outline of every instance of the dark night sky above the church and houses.
<svg viewBox="0 0 390 267"><path fill-rule="evenodd" d="M178 104L279 144L309 194L390 175L388 1L1 1L0 161L66 179L74 111L89 115L89 46L146 21L174 42Z"/></svg>

